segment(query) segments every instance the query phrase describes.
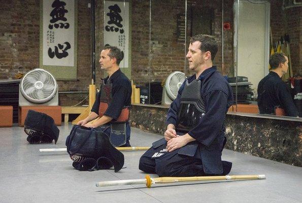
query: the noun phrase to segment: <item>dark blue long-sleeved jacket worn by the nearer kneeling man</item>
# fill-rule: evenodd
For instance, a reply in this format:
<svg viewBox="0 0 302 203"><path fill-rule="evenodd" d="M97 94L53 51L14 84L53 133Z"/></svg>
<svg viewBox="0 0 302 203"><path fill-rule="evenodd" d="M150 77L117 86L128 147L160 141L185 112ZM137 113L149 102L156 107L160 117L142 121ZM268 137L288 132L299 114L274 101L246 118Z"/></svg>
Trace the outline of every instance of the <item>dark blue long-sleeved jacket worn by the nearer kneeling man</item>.
<svg viewBox="0 0 302 203"><path fill-rule="evenodd" d="M196 76L194 74L187 80L190 83L195 79ZM225 131L223 123L228 108L233 104L233 95L230 85L226 79L217 72L216 66L205 70L200 74L198 79L202 82L200 93L205 101L206 114L199 120L198 125L191 129L188 134L199 143L208 147L218 134L224 133ZM166 124L174 124L175 126L177 124L177 112L179 111L183 89L184 83L179 88L178 95L170 106L167 113Z"/></svg>

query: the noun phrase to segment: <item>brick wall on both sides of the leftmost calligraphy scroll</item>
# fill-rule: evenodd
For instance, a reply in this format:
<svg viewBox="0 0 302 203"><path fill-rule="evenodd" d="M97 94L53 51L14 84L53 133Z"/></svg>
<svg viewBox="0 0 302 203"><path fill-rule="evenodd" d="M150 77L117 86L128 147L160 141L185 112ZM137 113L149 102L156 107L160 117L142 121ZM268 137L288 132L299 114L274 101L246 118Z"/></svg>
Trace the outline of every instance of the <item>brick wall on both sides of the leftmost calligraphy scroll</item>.
<svg viewBox="0 0 302 203"><path fill-rule="evenodd" d="M78 80L58 81L59 91L86 91L91 82L89 0L78 1ZM39 67L40 1L0 1L0 80ZM86 94L60 94L61 105L74 105ZM87 101L86 101L87 103Z"/></svg>

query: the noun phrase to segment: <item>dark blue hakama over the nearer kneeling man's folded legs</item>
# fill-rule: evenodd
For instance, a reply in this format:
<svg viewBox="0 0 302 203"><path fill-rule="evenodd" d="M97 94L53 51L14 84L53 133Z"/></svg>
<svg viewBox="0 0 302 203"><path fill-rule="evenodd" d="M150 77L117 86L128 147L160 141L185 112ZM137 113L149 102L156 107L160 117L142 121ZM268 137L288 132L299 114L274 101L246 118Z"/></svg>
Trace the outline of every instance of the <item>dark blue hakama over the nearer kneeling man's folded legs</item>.
<svg viewBox="0 0 302 203"><path fill-rule="evenodd" d="M157 142L160 141L162 140ZM197 141L191 142L188 145L195 145L195 142ZM160 146L152 145L143 154L140 158L139 169L146 173L156 173L159 177L227 175L231 170L232 163L221 161L223 142L219 143L221 145L213 145L211 149L198 145L195 148L194 154L188 155L182 152L184 151L184 147L172 152L165 152L166 141L164 141ZM219 158L213 158L213 155Z"/></svg>

